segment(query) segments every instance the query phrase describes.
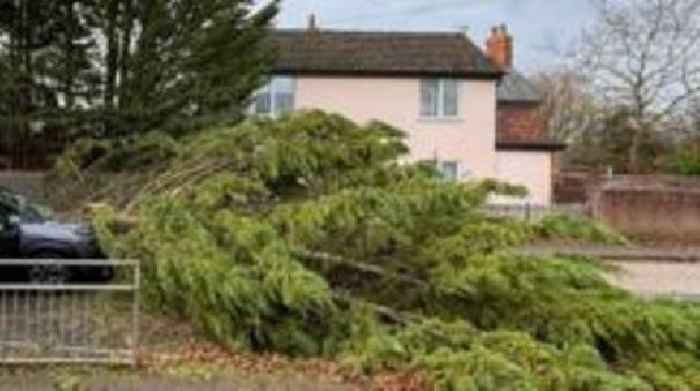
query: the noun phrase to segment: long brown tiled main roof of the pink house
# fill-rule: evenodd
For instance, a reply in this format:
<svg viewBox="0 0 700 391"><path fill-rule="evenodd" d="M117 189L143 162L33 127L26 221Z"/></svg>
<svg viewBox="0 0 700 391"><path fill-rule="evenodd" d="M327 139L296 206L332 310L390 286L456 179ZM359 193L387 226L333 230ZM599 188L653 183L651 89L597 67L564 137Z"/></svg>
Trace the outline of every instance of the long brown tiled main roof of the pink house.
<svg viewBox="0 0 700 391"><path fill-rule="evenodd" d="M275 73L499 78L462 33L278 29Z"/></svg>

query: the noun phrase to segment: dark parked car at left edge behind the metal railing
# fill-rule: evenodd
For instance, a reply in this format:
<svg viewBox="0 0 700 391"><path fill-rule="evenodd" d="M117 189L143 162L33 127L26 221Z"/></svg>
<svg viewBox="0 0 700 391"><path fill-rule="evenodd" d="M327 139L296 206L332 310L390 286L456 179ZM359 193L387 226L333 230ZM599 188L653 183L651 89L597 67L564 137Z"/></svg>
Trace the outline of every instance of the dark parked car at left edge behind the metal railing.
<svg viewBox="0 0 700 391"><path fill-rule="evenodd" d="M0 188L0 258L104 259L105 256L90 226L61 223L48 207ZM2 281L37 284L106 281L112 275L112 267L107 264L97 267L37 264L0 268Z"/></svg>

